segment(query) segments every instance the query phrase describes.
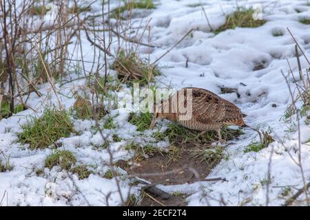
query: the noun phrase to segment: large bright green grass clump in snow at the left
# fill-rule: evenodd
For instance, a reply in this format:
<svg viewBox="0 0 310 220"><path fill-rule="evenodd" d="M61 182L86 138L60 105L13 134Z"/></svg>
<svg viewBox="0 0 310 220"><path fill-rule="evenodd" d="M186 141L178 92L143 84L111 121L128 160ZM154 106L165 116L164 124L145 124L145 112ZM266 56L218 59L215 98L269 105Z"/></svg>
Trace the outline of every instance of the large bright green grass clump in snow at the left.
<svg viewBox="0 0 310 220"><path fill-rule="evenodd" d="M46 148L61 137L74 133L73 124L64 110L45 109L41 118L33 118L21 125L23 132L17 133L19 142L30 144L30 149Z"/></svg>

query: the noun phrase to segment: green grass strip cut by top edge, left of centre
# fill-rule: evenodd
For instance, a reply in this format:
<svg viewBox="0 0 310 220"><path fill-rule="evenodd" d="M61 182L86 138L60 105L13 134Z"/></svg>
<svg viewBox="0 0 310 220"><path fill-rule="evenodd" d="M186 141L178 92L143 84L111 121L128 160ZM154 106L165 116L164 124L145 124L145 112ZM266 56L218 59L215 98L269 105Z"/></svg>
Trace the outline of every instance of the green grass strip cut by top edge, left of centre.
<svg viewBox="0 0 310 220"><path fill-rule="evenodd" d="M153 0L123 0L124 5L112 10L110 17L112 19L126 19L123 17L123 12L133 9L155 9Z"/></svg>

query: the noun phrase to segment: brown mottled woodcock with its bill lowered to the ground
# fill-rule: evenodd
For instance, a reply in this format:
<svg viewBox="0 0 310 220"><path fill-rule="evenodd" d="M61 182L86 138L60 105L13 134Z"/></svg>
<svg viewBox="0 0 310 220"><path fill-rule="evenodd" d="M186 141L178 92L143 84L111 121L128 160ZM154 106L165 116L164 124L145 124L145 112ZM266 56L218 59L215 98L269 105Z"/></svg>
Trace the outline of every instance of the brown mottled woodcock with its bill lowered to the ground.
<svg viewBox="0 0 310 220"><path fill-rule="evenodd" d="M187 96L188 93L192 94L192 96ZM184 118L181 117L184 115L184 111L179 111L179 108L176 107L178 104L176 104L173 99L178 97L177 100L179 102L182 96L184 96L183 104L185 107L192 101L192 117L188 120L184 120ZM169 107L167 106L168 104ZM165 107L168 107L169 111L163 111ZM175 110L172 111L174 108ZM219 142L223 142L220 135L220 128L223 125L247 126L242 120L245 116L247 115L242 114L235 104L220 98L220 96L217 96L211 91L187 87L178 90L172 97L164 100L155 107L154 118L150 127L153 129L159 119L165 118L173 122L178 122L187 129L202 131L201 134L206 131L217 131Z"/></svg>

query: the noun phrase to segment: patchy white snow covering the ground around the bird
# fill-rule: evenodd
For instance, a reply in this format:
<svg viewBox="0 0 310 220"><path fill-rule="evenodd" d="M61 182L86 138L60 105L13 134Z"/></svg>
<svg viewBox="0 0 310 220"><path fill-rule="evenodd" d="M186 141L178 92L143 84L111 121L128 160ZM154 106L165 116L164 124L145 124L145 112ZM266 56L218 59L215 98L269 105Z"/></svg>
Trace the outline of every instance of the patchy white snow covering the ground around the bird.
<svg viewBox="0 0 310 220"><path fill-rule="evenodd" d="M310 58L310 25L298 21L301 17L309 17L310 6L307 1L238 1L238 5L251 6L256 3L262 5L265 25L258 28L236 28L214 35L209 32L209 25L200 6L190 7L194 3L204 3L204 8L211 23L216 29L225 23L225 15L236 10L236 1L154 1L156 9L142 23L149 19L151 25L150 38L156 47L140 47L141 54L155 61L164 54L189 30L194 28L184 41L176 46L166 56L161 58L159 65L164 76L157 78L158 85L170 85L175 88L202 87L219 94L221 97L234 102L242 112L248 116L245 122L256 127L260 124L270 126L276 141L258 153L245 153L245 146L254 140L256 133L244 129L245 135L240 140L233 141L227 146L228 159L223 159L208 177L225 177L227 181L199 182L178 186L158 186L167 192L184 192L191 194L187 198L189 206L220 205L223 198L228 206L264 206L267 195L269 205L279 206L302 188L300 167L293 159L298 160L297 132L287 132L287 126L280 120L291 98L289 90L281 74L287 74L289 65L294 72L298 71L295 45L287 28L296 37L307 57ZM99 7L99 5L98 5ZM298 12L296 11L298 9ZM133 25L140 25L141 19L134 19ZM283 36L273 36L273 32L282 32ZM148 34L142 41L148 41ZM93 47L85 39L85 61L92 61ZM116 47L116 45L114 45ZM113 48L113 47L112 47ZM185 63L188 60L188 67ZM309 68L305 59L300 57L302 68ZM265 68L254 71L254 67L265 63ZM102 73L103 74L103 73ZM297 74L297 72L296 72ZM74 77L74 75L72 75ZM86 81L75 80L56 89L61 91L59 97L65 108L72 107L74 98L72 91L83 91ZM220 94L220 87L238 89L240 98L236 94ZM43 94L39 98L32 93L28 104L37 111L42 111L45 104L57 104L56 97L49 84L39 88ZM276 106L276 107L275 107ZM2 205L6 206L64 206L64 205L119 205L121 203L117 192L115 179L105 179L105 171L109 168L109 154L106 149L99 150L95 146L103 144L99 133L94 131L94 122L91 120L74 120L74 129L79 135L62 138L61 148L74 153L78 164L87 164L94 167L95 175L79 180L76 175L54 167L52 170L44 168L43 175L36 171L43 168L45 158L52 150L31 151L27 145L17 142L17 132L21 131L20 124L27 120L27 115L33 115L28 109L17 115L0 121L0 151L8 157L13 170L0 173L0 201L4 195ZM38 116L40 114L38 113ZM107 138L112 140L112 133L123 138L122 142L112 143L114 160L129 159L132 153L125 150L126 140L138 142L154 142L149 134L136 131L136 126L127 122L129 113L114 110L111 113L116 129L104 130ZM105 119L103 119L104 121ZM309 125L301 120L302 167L306 181L310 181L310 138ZM148 131L152 133L152 131ZM281 144L280 140L291 137ZM165 147L167 143L158 143ZM291 151L288 151L291 149ZM272 153L272 154L271 154ZM269 164L271 157L271 164ZM4 161L3 155L0 156ZM271 182L267 193L266 179L270 171ZM129 181L121 180L123 195L126 197L129 190ZM291 188L287 197L283 190ZM137 193L138 188L131 188ZM112 194L110 195L110 192ZM105 199L110 195L108 199ZM301 195L302 199L304 195Z"/></svg>

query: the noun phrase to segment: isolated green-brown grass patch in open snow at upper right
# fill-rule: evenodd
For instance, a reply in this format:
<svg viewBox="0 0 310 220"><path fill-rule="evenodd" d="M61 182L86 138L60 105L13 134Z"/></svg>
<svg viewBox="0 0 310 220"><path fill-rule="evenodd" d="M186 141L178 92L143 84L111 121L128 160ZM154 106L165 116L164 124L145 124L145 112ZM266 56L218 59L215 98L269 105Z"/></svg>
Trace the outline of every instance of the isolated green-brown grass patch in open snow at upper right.
<svg viewBox="0 0 310 220"><path fill-rule="evenodd" d="M233 14L227 15L225 24L220 26L220 28L215 31L216 34L228 29L235 29L237 27L257 28L266 23L265 20L254 20L253 14L253 8L238 8L238 10Z"/></svg>

